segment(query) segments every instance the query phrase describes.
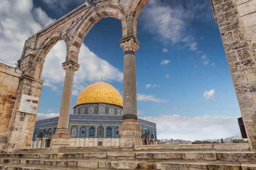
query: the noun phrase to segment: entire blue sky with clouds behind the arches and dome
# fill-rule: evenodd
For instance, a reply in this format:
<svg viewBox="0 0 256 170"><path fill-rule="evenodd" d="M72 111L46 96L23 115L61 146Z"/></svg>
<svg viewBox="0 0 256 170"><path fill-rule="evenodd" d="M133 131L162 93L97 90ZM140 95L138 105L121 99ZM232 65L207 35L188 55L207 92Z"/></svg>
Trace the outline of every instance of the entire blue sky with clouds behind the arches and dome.
<svg viewBox="0 0 256 170"><path fill-rule="evenodd" d="M84 3L84 0L2 1L5 9L0 10L0 44L16 45L12 50L5 47L1 51L3 60L11 63L19 59L29 36ZM10 14L14 8L15 14ZM157 123L160 139L213 139L239 134L236 119L241 113L211 10L209 0L149 0L139 15L138 113L143 119ZM20 25L19 29L16 24L7 24L6 14L12 23ZM100 74L103 81L122 95L120 38L121 22L115 18L103 18L87 34L79 55L81 68L75 73L72 106L84 87L100 81ZM58 116L65 74L61 62L65 53L65 43L61 41L45 59L42 76L45 83L37 119Z"/></svg>

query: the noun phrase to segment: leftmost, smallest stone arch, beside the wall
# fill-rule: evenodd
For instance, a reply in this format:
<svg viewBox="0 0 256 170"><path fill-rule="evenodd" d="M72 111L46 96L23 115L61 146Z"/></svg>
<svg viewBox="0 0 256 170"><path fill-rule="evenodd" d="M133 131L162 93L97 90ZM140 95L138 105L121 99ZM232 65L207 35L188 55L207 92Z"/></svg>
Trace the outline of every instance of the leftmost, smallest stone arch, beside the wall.
<svg viewBox="0 0 256 170"><path fill-rule="evenodd" d="M62 37L62 38L61 38ZM40 79L43 71L44 61L45 57L49 53L49 51L52 49L52 47L57 44L59 41L63 40L66 44L66 58L63 60L63 62L69 60L69 53L70 53L70 34L65 34L61 31L55 31L52 33L49 37L45 38L45 40L39 45L39 49L32 62L32 70L31 70L31 76L35 79ZM57 42L56 42L57 41ZM49 46L48 46L49 45ZM77 60L73 60L74 62L77 62Z"/></svg>

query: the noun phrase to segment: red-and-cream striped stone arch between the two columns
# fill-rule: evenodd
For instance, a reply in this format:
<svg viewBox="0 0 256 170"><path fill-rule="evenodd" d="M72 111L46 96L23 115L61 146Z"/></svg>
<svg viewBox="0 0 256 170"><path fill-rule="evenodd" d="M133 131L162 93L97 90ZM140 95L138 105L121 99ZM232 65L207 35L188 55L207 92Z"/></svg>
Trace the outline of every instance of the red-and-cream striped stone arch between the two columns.
<svg viewBox="0 0 256 170"><path fill-rule="evenodd" d="M119 6L109 5L95 8L92 10L83 22L77 27L75 36L70 46L70 57L78 60L79 51L84 41L84 37L89 33L90 29L102 18L113 17L122 23L122 38L127 37L127 22L125 11Z"/></svg>

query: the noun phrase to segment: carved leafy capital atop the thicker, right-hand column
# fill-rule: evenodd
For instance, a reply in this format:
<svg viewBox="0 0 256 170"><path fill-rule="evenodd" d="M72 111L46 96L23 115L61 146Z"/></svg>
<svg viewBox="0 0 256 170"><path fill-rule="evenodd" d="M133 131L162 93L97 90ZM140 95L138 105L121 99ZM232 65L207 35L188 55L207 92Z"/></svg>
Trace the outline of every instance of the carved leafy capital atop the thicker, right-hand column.
<svg viewBox="0 0 256 170"><path fill-rule="evenodd" d="M120 40L120 47L123 51L137 51L140 47L140 42L134 36L125 37Z"/></svg>

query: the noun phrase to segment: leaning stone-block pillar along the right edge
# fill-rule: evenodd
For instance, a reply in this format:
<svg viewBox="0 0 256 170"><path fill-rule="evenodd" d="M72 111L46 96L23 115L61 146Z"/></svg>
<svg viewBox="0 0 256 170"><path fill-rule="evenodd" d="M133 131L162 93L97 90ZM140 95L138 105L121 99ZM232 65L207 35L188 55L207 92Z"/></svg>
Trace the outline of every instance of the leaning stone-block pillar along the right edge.
<svg viewBox="0 0 256 170"><path fill-rule="evenodd" d="M241 115L250 143L256 150L256 0L211 0Z"/></svg>

